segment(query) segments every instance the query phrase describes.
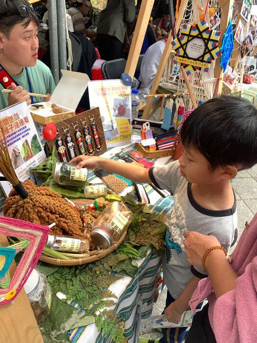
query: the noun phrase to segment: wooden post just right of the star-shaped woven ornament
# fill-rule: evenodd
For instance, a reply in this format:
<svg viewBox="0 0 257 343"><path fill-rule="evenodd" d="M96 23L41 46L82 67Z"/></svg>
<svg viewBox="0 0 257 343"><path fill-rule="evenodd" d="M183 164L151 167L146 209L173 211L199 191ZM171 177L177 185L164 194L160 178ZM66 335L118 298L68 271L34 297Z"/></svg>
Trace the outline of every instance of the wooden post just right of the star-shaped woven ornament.
<svg viewBox="0 0 257 343"><path fill-rule="evenodd" d="M227 1L223 1L223 6L222 6L222 11L221 11L221 18L220 18L220 25L219 25L219 30L221 31L221 35L220 35L220 39L218 42L218 47L220 48L222 45L222 39L224 36L224 33L228 27L229 24L229 13L230 13L230 9L234 4L234 0L227 0ZM238 16L240 17L240 16ZM234 44L236 44L236 40L234 40ZM238 44L238 43L237 43ZM236 48L236 47L234 47ZM222 91L222 85L223 85L223 70L219 64L219 60L216 60L215 62L215 68L214 68L214 78L216 78L218 81L218 87L216 87L215 89L215 93L213 94L213 98L217 97L218 95L221 94Z"/></svg>

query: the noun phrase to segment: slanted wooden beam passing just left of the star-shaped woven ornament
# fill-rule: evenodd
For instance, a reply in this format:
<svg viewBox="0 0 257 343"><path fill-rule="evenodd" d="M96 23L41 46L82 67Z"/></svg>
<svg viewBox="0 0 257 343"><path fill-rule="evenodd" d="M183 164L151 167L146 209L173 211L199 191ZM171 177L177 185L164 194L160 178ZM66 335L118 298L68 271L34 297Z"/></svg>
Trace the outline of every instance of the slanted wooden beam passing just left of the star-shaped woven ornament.
<svg viewBox="0 0 257 343"><path fill-rule="evenodd" d="M180 5L179 15L178 15L178 18L177 18L177 21L176 21L176 25L175 25L176 32L178 32L178 30L180 28L182 19L184 17L186 5L187 5L187 0L182 0L181 1L181 5ZM165 66L166 66L166 64L168 62L168 58L169 58L169 55L170 55L170 52L171 52L171 49L172 49L172 45L171 45L172 41L173 41L173 37L172 37L171 31L170 31L168 39L167 39L166 46L164 48L164 53L163 53L163 56L162 56L161 61L160 61L159 68L157 70L157 73L155 75L155 78L154 78L154 81L153 81L153 84L152 84L152 87L151 87L150 94L155 94L157 89L158 89L158 86L159 86L161 78L162 78L162 76L164 74L164 69L165 69ZM146 105L145 105L145 108L144 108L144 111L143 111L142 119L149 119L150 118L150 110L151 110L151 107L152 107L152 104L153 104L153 100L154 100L154 98L148 98L147 99L147 102L146 102Z"/></svg>

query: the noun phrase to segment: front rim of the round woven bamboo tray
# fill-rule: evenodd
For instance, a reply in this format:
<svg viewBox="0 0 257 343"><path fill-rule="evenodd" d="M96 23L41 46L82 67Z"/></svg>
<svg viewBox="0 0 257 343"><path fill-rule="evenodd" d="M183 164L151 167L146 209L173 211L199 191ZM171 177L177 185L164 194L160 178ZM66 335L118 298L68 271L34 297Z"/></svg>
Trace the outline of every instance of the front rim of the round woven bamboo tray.
<svg viewBox="0 0 257 343"><path fill-rule="evenodd" d="M72 260L62 260L59 258L53 258L53 257L49 257L45 254L41 254L40 256L40 260L43 262L47 262L50 265L56 265L56 266L78 266L78 265L84 265L86 263L90 263L90 262L94 262L97 260L100 260L102 257L105 257L106 255L109 255L111 252L113 252L114 250L117 249L117 247L119 245L121 245L121 243L124 241L126 237L126 232L123 233L123 235L121 236L120 240L111 245L108 249L101 249L99 250L98 253L95 253L92 256L88 256L88 257L83 257L83 258L77 258L77 259L72 259ZM93 251L92 251L93 252ZM97 250L95 251L97 252Z"/></svg>

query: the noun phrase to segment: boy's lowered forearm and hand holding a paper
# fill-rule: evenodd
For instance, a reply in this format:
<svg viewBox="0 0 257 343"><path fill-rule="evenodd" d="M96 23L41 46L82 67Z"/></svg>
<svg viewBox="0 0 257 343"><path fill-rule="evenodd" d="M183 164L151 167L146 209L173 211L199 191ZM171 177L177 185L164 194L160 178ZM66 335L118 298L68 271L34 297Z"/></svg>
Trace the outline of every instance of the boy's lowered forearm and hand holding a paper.
<svg viewBox="0 0 257 343"><path fill-rule="evenodd" d="M198 277L193 276L193 278L188 282L184 292L165 309L164 314L167 316L168 321L179 323L183 313L189 307L188 302L191 299L199 281L200 279Z"/></svg>

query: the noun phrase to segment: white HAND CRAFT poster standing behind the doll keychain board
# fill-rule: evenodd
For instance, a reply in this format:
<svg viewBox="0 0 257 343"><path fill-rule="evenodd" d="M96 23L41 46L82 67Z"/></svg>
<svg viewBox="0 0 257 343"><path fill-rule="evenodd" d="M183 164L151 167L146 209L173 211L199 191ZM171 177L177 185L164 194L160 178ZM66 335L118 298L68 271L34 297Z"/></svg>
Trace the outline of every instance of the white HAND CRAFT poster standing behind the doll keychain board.
<svg viewBox="0 0 257 343"><path fill-rule="evenodd" d="M90 108L99 107L107 147L129 144L131 87L122 80L89 81Z"/></svg>

